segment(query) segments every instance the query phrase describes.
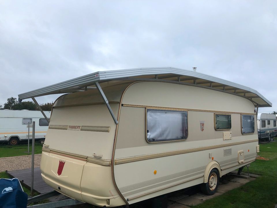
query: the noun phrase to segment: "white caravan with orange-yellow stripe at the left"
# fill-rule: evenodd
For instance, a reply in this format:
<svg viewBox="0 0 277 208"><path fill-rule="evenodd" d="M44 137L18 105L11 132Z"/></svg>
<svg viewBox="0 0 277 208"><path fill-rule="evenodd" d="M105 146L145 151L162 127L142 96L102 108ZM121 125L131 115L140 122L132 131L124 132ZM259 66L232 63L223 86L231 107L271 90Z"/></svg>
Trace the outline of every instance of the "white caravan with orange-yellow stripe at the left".
<svg viewBox="0 0 277 208"><path fill-rule="evenodd" d="M50 118L50 111L44 111ZM0 142L16 145L19 141L28 140L28 122L32 138L32 122L35 121L35 139L44 139L48 122L40 111L0 110Z"/></svg>

